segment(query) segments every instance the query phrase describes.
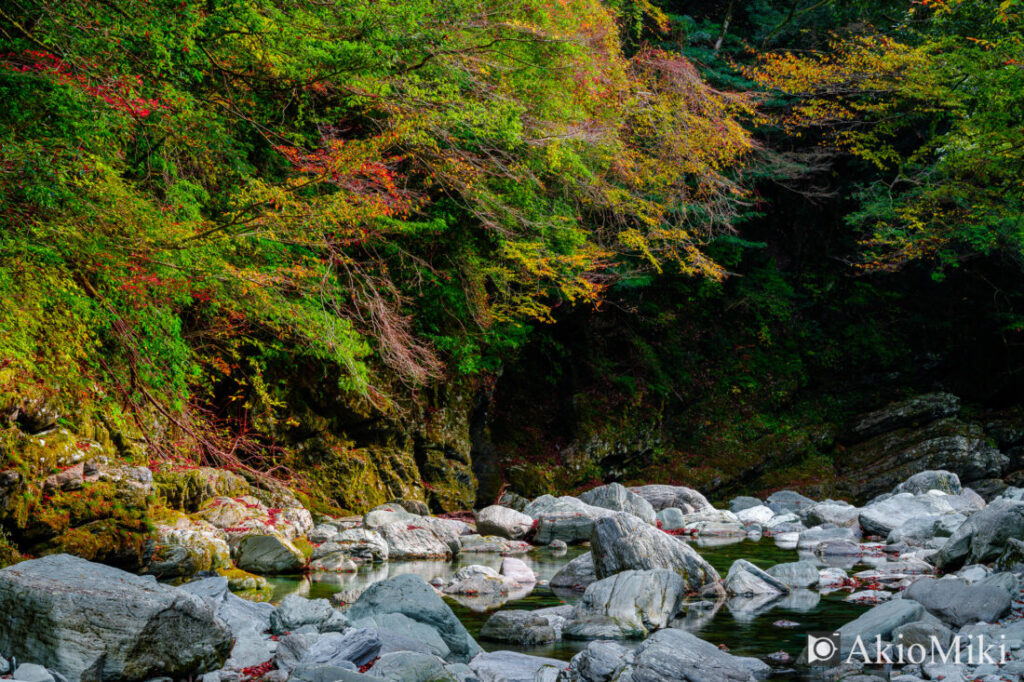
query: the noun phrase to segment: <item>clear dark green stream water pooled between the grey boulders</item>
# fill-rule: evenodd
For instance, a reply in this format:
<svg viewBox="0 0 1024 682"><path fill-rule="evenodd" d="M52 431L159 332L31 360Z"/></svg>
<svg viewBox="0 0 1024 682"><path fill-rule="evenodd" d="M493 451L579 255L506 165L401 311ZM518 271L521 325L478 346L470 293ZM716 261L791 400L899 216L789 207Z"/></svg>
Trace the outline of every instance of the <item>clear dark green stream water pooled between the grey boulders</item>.
<svg viewBox="0 0 1024 682"><path fill-rule="evenodd" d="M752 563L767 568L776 563L797 561L798 559L813 559L806 554L798 554L795 549L780 547L772 540L759 542L743 541L696 541L693 543L701 556L725 576L729 566L736 559L746 559ZM520 555L530 568L542 580L550 580L570 559L586 552L584 547L570 547L568 552L555 556L550 552L540 550ZM269 579L274 587L273 600L283 599L288 594L299 593L308 598L329 597L335 592L353 588L366 587L377 581L387 580L400 573L416 573L426 581L434 578L446 580L460 567L469 564L482 564L498 568L502 557L496 554L467 554L455 561L403 561L379 566L360 566L358 572L343 574L317 574L294 578ZM859 570L877 563L871 559L867 564L843 565L842 567ZM718 604L713 609L694 609L690 616L680 616L676 627L685 628L701 638L715 644L724 645L731 653L737 655L757 656L764 658L767 654L779 650L785 651L794 658L800 653L806 642L806 634L810 631L835 630L845 623L857 617L867 606L851 604L843 601L846 592L818 594L816 591L801 591L790 597L783 597L770 604L756 604L750 600L730 599ZM579 599L579 594L554 593L549 588L538 587L532 592L498 604L480 602L473 598L444 599L466 626L466 629L477 637L480 628L490 614L499 609L520 608L536 609L546 606L572 603ZM790 621L799 624L796 627L783 628L774 625L779 621ZM639 644L639 642L633 642ZM629 645L630 642L624 642ZM528 648L515 647L506 642L487 642L480 640L480 645L486 650L513 649L534 655L550 656L567 660L573 654L587 646L587 642L562 640L553 644ZM798 676L793 672L785 673L790 679ZM800 676L802 677L802 676Z"/></svg>

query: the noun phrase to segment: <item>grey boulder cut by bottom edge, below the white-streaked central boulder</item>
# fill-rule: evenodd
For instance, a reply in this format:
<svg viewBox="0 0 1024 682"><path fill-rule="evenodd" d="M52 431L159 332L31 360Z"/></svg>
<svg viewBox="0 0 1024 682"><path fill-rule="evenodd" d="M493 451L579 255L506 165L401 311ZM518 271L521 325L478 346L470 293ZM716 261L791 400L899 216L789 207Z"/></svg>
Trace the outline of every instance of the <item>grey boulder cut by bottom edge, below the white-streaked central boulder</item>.
<svg viewBox="0 0 1024 682"><path fill-rule="evenodd" d="M757 658L734 656L684 630L658 630L637 647L615 680L634 682L754 682L768 673Z"/></svg>

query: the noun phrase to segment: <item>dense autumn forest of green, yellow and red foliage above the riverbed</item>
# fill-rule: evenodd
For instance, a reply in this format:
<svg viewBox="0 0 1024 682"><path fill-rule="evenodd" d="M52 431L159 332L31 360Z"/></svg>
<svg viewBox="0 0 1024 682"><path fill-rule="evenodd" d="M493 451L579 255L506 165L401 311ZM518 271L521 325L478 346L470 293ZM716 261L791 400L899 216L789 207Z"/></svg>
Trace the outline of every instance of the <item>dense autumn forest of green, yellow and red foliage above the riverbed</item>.
<svg viewBox="0 0 1024 682"><path fill-rule="evenodd" d="M83 542L30 518L69 452L350 512L829 494L852 415L1024 401L1020 0L11 0L0 40L23 549Z"/></svg>

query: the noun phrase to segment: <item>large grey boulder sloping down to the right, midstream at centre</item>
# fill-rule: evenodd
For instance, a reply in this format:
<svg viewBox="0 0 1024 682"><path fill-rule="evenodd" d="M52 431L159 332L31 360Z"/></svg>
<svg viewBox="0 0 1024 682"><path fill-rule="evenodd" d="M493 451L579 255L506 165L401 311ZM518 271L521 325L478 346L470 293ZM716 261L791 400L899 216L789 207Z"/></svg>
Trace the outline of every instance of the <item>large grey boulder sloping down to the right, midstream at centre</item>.
<svg viewBox="0 0 1024 682"><path fill-rule="evenodd" d="M683 579L687 590L719 580L715 568L689 545L631 514L598 520L591 547L594 573L599 579L624 570L668 568Z"/></svg>

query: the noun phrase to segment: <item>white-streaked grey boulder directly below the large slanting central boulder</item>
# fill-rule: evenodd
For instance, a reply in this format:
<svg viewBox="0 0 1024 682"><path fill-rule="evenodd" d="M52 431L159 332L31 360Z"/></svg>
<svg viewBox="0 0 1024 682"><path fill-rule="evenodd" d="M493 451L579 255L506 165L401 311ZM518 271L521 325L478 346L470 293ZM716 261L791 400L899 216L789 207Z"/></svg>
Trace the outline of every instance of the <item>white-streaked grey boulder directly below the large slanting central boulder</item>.
<svg viewBox="0 0 1024 682"><path fill-rule="evenodd" d="M625 570L587 588L562 635L572 639L646 637L668 627L685 596L683 580L671 570Z"/></svg>

